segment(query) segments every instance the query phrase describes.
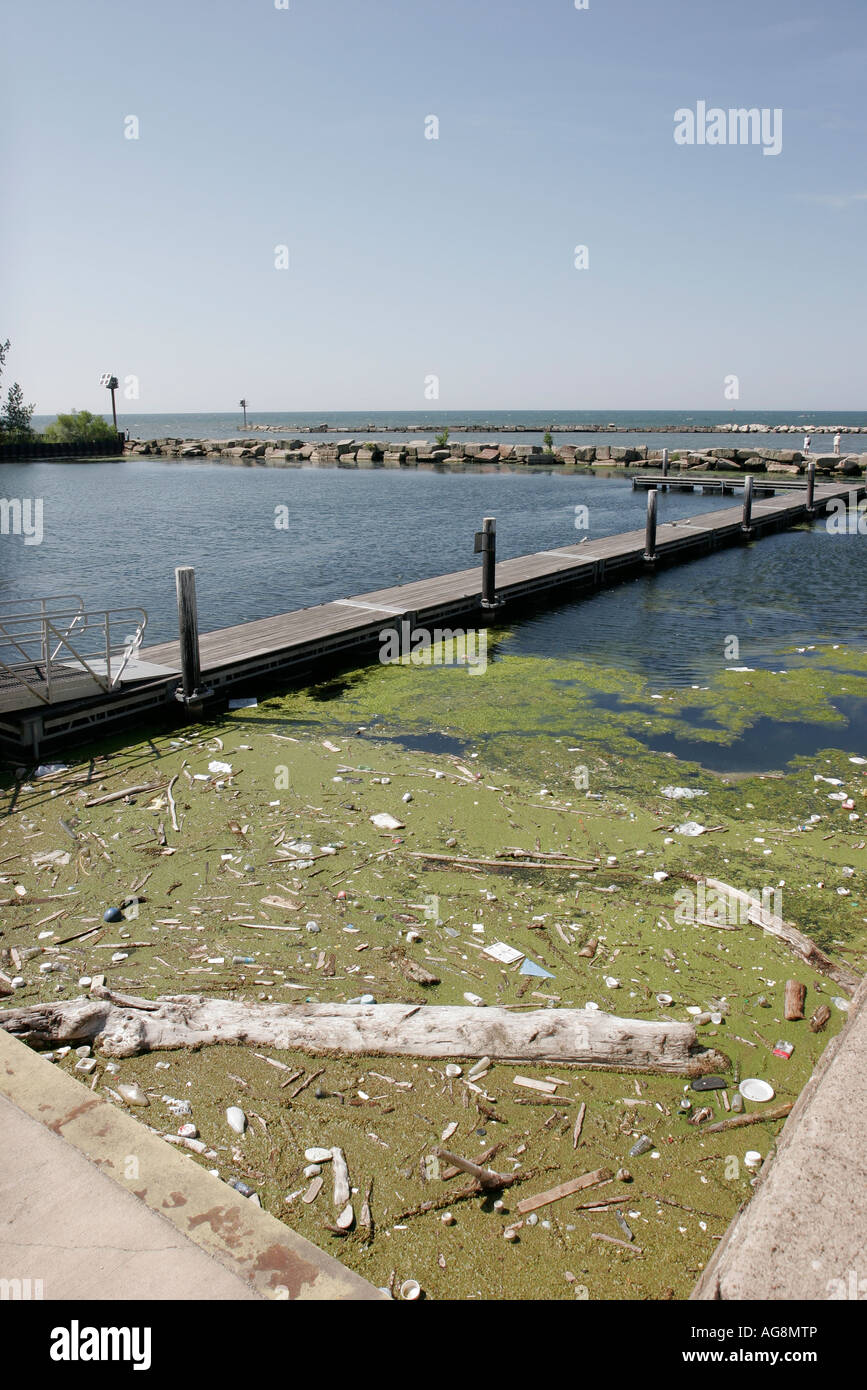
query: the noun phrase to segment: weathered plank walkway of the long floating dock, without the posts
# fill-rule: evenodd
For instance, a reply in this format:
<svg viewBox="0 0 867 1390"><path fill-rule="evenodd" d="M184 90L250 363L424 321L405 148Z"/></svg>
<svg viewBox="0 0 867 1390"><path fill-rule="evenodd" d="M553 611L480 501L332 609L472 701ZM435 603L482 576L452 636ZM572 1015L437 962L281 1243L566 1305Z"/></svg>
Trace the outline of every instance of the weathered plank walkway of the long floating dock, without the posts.
<svg viewBox="0 0 867 1390"><path fill-rule="evenodd" d="M814 510L821 514L829 500L850 502L863 496L864 491L863 480L817 484ZM803 493L753 498L754 537L800 520L807 520ZM677 563L718 545L742 541L742 521L743 507L736 505L661 523L656 532L654 563L663 567L667 559ZM649 566L645 560L645 531L635 530L500 560L496 566L497 599L532 600L545 594L560 595L567 587L575 592L586 592L629 574L646 573ZM479 607L481 594L479 566L204 632L200 635L201 680L213 691L222 692L240 681L249 682L281 671L315 678L321 660L343 660L353 652L358 659L368 659L378 644L378 634L403 620L428 630L447 626L457 617L489 624L490 613ZM124 710L142 717L147 710L154 712L174 703L181 676L179 642L143 648L139 662L161 667L165 674L126 684L110 695L100 692L63 706L42 706L40 710L6 709L0 721L0 738L6 744L17 741L18 751L38 748L46 741L72 737L76 730L101 727L122 717Z"/></svg>

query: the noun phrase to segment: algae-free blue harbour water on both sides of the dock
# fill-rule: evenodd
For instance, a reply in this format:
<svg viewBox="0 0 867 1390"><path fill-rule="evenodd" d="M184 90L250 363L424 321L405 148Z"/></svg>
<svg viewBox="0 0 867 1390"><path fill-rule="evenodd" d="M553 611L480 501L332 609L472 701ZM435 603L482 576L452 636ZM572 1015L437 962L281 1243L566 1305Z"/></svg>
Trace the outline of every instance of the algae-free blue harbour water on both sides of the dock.
<svg viewBox="0 0 867 1390"><path fill-rule="evenodd" d="M174 567L196 569L203 631L478 564L472 532L497 518L502 559L643 525L628 480L549 473L438 474L229 468L158 460L3 464L4 496L42 498L44 539L0 537L0 599L81 594L142 606L146 642L176 635ZM660 520L732 506L660 496ZM575 530L575 506L589 530ZM274 524L288 509L288 530ZM739 664L793 664L788 645L867 641L867 537L824 527L710 555L522 617L502 651L629 667L659 687L702 682L725 639Z"/></svg>

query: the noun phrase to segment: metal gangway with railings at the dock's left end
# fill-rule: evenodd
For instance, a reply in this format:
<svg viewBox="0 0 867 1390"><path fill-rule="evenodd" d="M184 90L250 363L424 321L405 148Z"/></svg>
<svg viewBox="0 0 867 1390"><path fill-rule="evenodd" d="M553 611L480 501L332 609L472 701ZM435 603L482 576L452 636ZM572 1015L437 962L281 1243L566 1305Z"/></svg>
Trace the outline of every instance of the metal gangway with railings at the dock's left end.
<svg viewBox="0 0 867 1390"><path fill-rule="evenodd" d="M144 609L85 609L78 594L0 599L0 710L117 689L146 626Z"/></svg>

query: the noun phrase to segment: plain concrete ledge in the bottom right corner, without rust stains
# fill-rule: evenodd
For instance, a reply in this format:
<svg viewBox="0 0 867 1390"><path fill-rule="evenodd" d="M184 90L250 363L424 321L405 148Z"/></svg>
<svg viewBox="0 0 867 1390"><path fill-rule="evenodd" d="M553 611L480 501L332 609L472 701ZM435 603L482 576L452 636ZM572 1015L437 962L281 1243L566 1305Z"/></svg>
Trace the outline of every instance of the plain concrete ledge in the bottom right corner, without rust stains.
<svg viewBox="0 0 867 1390"><path fill-rule="evenodd" d="M867 981L691 1297L867 1298Z"/></svg>

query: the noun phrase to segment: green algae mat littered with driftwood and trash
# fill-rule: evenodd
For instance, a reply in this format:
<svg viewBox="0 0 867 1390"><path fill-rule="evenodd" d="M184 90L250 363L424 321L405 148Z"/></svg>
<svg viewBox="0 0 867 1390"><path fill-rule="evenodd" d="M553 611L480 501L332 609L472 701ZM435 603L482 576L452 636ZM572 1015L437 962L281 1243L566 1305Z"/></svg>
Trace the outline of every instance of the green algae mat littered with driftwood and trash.
<svg viewBox="0 0 867 1390"><path fill-rule="evenodd" d="M496 1062L471 1077L460 1056L245 1045L108 1065L97 1052L90 1072L75 1049L57 1055L115 1104L118 1084L138 1083L143 1123L171 1136L195 1125L203 1152L190 1162L246 1184L396 1295L417 1280L428 1298L684 1298L781 1122L709 1127L739 1104L759 1115L795 1101L848 1002L782 942L714 912L696 877L764 895L835 963L866 962L867 760L839 699L867 698L867 659L839 648L791 666L729 669L686 691L509 655L484 676L365 669L83 749L47 776L7 776L3 1005L71 999L104 977L147 998L470 995L697 1019L729 1062L724 1088ZM731 776L649 746L718 749L768 719L827 728L825 746ZM502 863L479 862L490 859ZM121 910L106 923L110 908ZM789 979L806 986L803 1020L784 1022ZM831 1016L814 1033L820 1005ZM749 1077L773 1087L770 1104L739 1101ZM229 1106L246 1115L240 1136ZM331 1162L317 1175L306 1158L332 1147L349 1165L349 1232ZM440 1147L514 1182L472 1191ZM597 1170L595 1186L518 1211Z"/></svg>

